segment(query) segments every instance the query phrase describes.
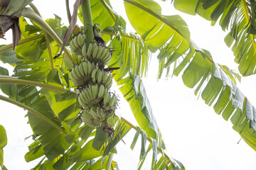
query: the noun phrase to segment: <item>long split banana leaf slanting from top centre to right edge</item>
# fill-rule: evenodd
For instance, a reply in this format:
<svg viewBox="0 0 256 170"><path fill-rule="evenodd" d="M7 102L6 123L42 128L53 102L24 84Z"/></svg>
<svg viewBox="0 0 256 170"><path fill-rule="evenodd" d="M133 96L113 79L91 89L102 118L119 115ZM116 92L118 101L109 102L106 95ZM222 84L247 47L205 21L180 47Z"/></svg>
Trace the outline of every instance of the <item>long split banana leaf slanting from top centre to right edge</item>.
<svg viewBox="0 0 256 170"><path fill-rule="evenodd" d="M234 125L233 129L239 132L242 139L252 149L256 149L255 108L235 85L235 74L230 72L227 67L215 64L210 52L201 50L194 42L188 41L189 38L181 34L182 31L186 30L184 21L176 16L162 16L160 6L154 3L154 1L124 0L124 6L126 6L129 21L134 23L135 30L142 37L144 37L145 33L151 33L151 30L154 30L159 22L161 22L162 27L154 30L153 38L163 39L164 33L161 32L161 29L164 26L169 27L171 30L171 35L167 33L169 36L165 37L165 40L160 41L161 44L158 46L159 50L161 50L158 55L160 75L164 67L167 68L168 75L170 72L168 68L174 62L174 74L178 75L183 70L183 83L189 88L196 86L195 94L198 94L198 91L202 91L201 96L206 101L206 104L209 106L213 105L215 112L222 114L225 120L230 119ZM161 18L165 18L165 20ZM151 22L155 26L152 26L151 29L142 27L145 28L142 30L141 27L137 26L141 22ZM167 23L174 24L169 26ZM189 33L186 33L186 35L189 35ZM147 43L150 42L150 39L148 41L144 40ZM151 43L154 45L154 42ZM192 47L192 49L189 47ZM149 49L155 50L150 47ZM161 60L163 58L167 59L166 62ZM178 60L180 61L179 64L176 62Z"/></svg>

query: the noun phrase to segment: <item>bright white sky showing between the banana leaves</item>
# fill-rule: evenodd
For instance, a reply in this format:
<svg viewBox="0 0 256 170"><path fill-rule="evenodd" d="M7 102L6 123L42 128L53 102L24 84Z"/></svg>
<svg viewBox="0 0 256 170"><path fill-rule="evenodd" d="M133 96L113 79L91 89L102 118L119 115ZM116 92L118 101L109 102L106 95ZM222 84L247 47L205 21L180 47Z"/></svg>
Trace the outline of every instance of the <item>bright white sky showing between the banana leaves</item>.
<svg viewBox="0 0 256 170"><path fill-rule="evenodd" d="M125 16L122 1L114 2L119 3L114 6L114 10ZM45 0L42 3L42 1L35 0L33 3L38 7L43 18L53 18L53 13L55 13L63 18L65 25L68 25L64 1ZM161 1L161 4L164 2ZM180 13L172 5L164 4L163 13L165 15L180 15L188 24L191 39L199 47L209 50L215 62L238 70L237 64L233 62L233 53L223 40L227 33L224 33L220 26L211 27L210 22L203 18ZM10 31L6 38L6 41L0 40L0 44L11 42ZM232 129L232 124L215 114L213 108L206 106L201 97L197 100L193 89L184 86L181 77L156 81L157 69L158 61L156 55L153 55L149 74L144 78L144 86L146 86L146 94L164 137L169 157L178 159L186 169L254 170L256 153L243 140L237 144L240 135ZM242 83L239 84L240 90L254 106L256 106L255 85L255 76L242 78ZM9 140L8 145L4 147L4 164L8 169L32 168L36 163L27 164L23 159L28 152L27 146L31 143L31 140L24 142L24 138L32 134L29 125L26 125L27 118L24 118L26 112L5 102L0 102L0 106L4 108L0 114L0 124L6 128ZM121 100L117 112L136 124L124 99ZM122 142L118 145L118 154L115 160L119 163L120 169L137 169L140 138L135 151L131 151L129 146L133 136L134 130L131 130L124 138L127 145ZM146 160L145 164L151 164L151 157ZM148 167L144 169L148 169Z"/></svg>

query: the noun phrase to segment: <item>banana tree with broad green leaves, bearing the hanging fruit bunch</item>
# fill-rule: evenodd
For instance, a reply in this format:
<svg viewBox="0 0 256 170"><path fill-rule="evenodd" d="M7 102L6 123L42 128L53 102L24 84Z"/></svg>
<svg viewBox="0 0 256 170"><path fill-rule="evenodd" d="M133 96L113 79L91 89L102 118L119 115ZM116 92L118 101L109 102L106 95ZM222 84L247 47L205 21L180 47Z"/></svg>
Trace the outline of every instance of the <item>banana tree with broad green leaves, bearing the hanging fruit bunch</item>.
<svg viewBox="0 0 256 170"><path fill-rule="evenodd" d="M155 1L124 0L129 22L137 31L126 33L126 21L113 11L109 1L76 1L73 11L81 6L79 13L71 16L68 12L70 28L61 26L58 16L43 21L31 1L23 1L21 6L15 3L10 1L9 5L17 7L16 14L4 15L19 18L21 40L0 47L1 61L14 67L12 76L4 68L0 70L1 91L9 96L0 98L28 111L34 142L25 159L40 159L35 169L118 169L113 159L115 146L131 128L136 130L132 148L138 136L142 137L139 169L151 150L151 169L184 169L181 162L165 153L141 79L151 52L158 50L159 79L164 71L169 77L171 68L176 76L182 72L184 84L196 86L195 94L202 91L203 100L208 105L214 103L215 112L225 120L230 118L234 130L256 148L255 108L236 86L237 75L215 63L210 52L191 40L180 16L162 15ZM24 8L28 4L31 8ZM83 23L76 27L81 33L73 30L77 15ZM111 85L102 81L110 71L138 127L114 114L117 98L110 93Z"/></svg>

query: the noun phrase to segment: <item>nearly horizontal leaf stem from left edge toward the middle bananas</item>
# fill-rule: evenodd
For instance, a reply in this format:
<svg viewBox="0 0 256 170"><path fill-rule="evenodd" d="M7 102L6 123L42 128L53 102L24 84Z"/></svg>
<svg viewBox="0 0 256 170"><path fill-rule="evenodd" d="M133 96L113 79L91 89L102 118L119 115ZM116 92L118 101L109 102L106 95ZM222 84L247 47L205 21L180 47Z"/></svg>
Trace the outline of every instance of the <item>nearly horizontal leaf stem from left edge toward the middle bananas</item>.
<svg viewBox="0 0 256 170"><path fill-rule="evenodd" d="M50 84L43 84L43 83L40 83L37 81L17 79L17 77L7 77L7 76L6 76L6 78L0 77L0 83L2 83L2 84L26 84L26 85L31 85L31 86L40 86L43 88L60 91L60 92L68 91L68 90L60 88L58 86L53 86Z"/></svg>

